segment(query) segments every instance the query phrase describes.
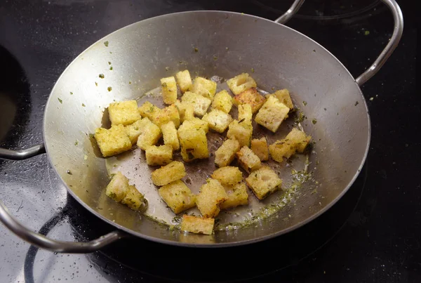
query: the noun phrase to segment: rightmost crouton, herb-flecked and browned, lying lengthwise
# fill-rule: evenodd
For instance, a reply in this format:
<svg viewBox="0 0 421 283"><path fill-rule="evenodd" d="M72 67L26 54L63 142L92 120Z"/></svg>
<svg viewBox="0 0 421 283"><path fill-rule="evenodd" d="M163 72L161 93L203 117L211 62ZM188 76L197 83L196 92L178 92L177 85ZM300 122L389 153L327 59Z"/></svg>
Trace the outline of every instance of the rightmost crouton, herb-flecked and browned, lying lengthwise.
<svg viewBox="0 0 421 283"><path fill-rule="evenodd" d="M305 132L294 128L285 138L269 145L270 155L276 162L282 162L283 157L290 158L295 152L303 152L311 139Z"/></svg>

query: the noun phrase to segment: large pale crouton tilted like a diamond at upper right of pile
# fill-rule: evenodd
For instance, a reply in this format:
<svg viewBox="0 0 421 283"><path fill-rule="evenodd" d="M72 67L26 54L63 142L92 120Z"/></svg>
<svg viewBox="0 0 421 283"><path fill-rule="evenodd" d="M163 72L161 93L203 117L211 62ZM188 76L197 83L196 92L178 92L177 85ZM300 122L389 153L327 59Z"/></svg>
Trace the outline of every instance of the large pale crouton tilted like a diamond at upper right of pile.
<svg viewBox="0 0 421 283"><path fill-rule="evenodd" d="M275 133L281 126L282 121L288 118L288 112L289 108L280 103L278 98L269 96L256 115L255 121Z"/></svg>

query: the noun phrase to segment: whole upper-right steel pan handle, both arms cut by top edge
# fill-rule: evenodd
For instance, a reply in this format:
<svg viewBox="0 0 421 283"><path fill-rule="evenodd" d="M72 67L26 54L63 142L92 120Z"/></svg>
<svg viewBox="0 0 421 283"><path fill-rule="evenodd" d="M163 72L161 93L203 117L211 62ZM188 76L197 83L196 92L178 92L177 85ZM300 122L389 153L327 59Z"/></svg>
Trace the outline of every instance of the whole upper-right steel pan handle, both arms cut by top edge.
<svg viewBox="0 0 421 283"><path fill-rule="evenodd" d="M281 15L281 17L277 18L275 22L279 24L285 24L290 18L293 17L295 13L297 13L298 9L302 6L305 0L295 0L293 5ZM389 7L390 11L393 15L394 20L394 30L392 37L389 40L389 43L383 49L382 53L377 57L377 59L373 62L373 65L368 67L366 72L363 72L359 77L356 78L356 84L362 86L363 84L368 81L371 77L373 77L377 72L379 72L380 68L385 65L387 59L389 59L390 55L392 55L393 51L395 50L396 46L398 46L399 41L402 37L403 32L403 15L401 8L396 3L395 0L381 0L383 3Z"/></svg>

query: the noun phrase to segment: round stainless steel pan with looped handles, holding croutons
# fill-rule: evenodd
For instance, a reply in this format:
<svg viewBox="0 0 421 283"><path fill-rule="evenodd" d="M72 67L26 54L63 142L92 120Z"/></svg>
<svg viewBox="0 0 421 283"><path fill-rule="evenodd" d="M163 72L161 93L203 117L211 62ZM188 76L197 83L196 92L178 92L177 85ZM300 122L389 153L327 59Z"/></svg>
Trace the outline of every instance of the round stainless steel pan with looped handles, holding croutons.
<svg viewBox="0 0 421 283"><path fill-rule="evenodd" d="M44 114L44 143L69 194L117 230L93 242L59 242L20 225L2 202L1 222L31 244L76 253L95 251L128 234L184 246L232 246L275 237L312 221L347 192L366 159L370 117L360 86L382 67L403 29L399 6L394 0L382 1L394 16L393 35L379 58L356 79L325 48L283 25L303 0L296 0L274 22L240 13L193 11L142 20L109 34L83 51L55 84ZM109 70L110 64L113 70ZM272 216L244 228L218 230L211 236L186 235L105 197L109 171L105 159L95 154L89 133L106 121L102 121L102 112L113 100L153 100L143 95L156 88L159 78L184 69L225 79L254 70L252 75L260 88L288 88L295 104L308 117L302 126L316 141L309 157L312 178L291 193L290 201ZM101 79L99 74L105 77ZM303 101L307 106L302 105ZM311 123L313 118L317 124ZM269 139L281 138L285 131ZM218 146L218 139L213 141L210 147ZM0 157L25 159L43 152L44 145L21 151L1 149ZM150 169L143 158L140 150L134 150L107 162L121 166L136 187L145 192L150 215L168 220L168 209L156 199L156 188L149 180ZM294 166L302 170L302 159L276 170L288 179ZM189 166L195 190L212 169L212 159ZM292 184L285 181L288 182ZM279 194L264 204L279 204ZM250 206L259 209L262 204L252 200ZM247 217L247 213L243 209L241 217ZM234 217L227 214L223 221L234 221Z"/></svg>

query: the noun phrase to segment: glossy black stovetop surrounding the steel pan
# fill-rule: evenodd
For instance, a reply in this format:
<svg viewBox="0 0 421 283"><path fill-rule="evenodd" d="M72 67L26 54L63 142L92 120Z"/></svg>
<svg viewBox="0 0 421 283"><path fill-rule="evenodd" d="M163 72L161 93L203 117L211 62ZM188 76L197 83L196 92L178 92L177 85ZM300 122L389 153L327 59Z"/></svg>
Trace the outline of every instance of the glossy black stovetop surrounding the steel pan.
<svg viewBox="0 0 421 283"><path fill-rule="evenodd" d="M0 147L41 143L44 106L60 73L120 27L203 9L275 19L291 2L3 0ZM128 239L88 255L36 249L0 225L0 282L421 282L418 29L413 1L399 4L401 44L362 88L372 122L368 160L349 192L321 217L287 235L232 249ZM392 33L392 17L377 0L307 0L288 25L325 46L354 77ZM49 237L86 241L113 230L67 195L45 154L0 160L0 178L0 199L22 223Z"/></svg>

